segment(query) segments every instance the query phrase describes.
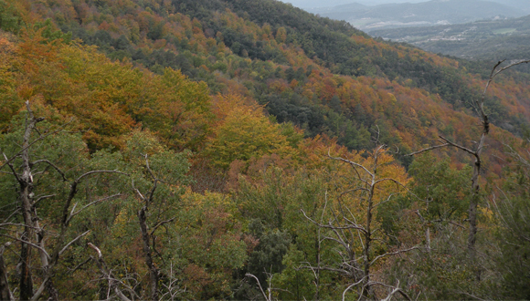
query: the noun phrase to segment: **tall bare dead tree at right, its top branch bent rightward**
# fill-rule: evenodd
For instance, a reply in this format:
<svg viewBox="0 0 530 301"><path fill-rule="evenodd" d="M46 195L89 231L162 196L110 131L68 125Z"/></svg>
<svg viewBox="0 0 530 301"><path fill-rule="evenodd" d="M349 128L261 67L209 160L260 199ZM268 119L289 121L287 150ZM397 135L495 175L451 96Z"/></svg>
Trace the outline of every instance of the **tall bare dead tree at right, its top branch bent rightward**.
<svg viewBox="0 0 530 301"><path fill-rule="evenodd" d="M472 263L474 263L476 260L475 243L476 243L476 235L477 235L477 207L480 201L480 189L481 189L480 187L480 176L481 176L481 171L482 171L481 155L482 155L482 150L484 149L484 143L485 143L486 137L490 133L490 126L491 126L490 119L486 111L484 110L484 101L486 99L486 93L488 91L488 88L492 84L493 79L497 77L501 72L511 67L521 65L521 64L527 64L529 62L530 62L530 59L525 59L525 60L520 60L520 61L511 63L508 66L501 67L501 65L504 63L504 60L503 60L503 61L499 61L493 67L492 72L490 74L490 78L486 82L484 90L482 91L482 97L480 99L475 99L473 103L474 109L476 110L476 113L482 125L482 134L481 134L480 139L476 143L476 146L474 149L470 149L465 146L462 146L440 135L439 145L435 145L435 146L432 146L432 147L429 147L423 150L418 150L418 151L412 152L407 155L407 156L414 156L416 154L429 151L429 150L452 147L452 148L456 148L457 150L465 151L468 154L470 154L472 158L474 158L473 173L472 173L472 198L470 202L469 218L468 218L470 226L469 226L469 234L468 234L468 242L467 242L467 249L468 249L468 253L469 253ZM480 280L480 271L477 271L476 277L477 277L477 280Z"/></svg>

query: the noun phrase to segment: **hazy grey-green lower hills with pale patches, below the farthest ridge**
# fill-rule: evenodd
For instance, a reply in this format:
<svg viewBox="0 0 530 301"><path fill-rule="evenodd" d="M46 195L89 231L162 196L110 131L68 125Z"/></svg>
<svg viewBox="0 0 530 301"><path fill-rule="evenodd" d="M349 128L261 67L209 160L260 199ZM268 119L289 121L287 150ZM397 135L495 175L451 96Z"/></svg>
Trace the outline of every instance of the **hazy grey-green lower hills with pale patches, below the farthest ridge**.
<svg viewBox="0 0 530 301"><path fill-rule="evenodd" d="M530 57L530 16L451 26L381 29L370 34L454 57L492 61ZM525 69L530 71L530 67Z"/></svg>

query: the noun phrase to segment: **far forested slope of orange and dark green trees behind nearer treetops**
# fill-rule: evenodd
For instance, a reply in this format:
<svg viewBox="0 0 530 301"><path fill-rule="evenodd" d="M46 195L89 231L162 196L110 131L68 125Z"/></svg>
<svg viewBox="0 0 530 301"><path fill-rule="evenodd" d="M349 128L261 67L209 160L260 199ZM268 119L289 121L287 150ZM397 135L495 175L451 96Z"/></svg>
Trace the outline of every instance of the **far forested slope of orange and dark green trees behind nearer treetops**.
<svg viewBox="0 0 530 301"><path fill-rule="evenodd" d="M436 132L467 141L470 133L456 129L471 126L472 99L489 74L488 65L375 40L272 0L26 4L31 14L23 18L50 17L113 59L160 74L181 69L214 94L255 99L279 122L291 121L310 137L337 137L352 149L368 148L376 127L383 142L406 149ZM518 134L530 116L522 77L495 83L487 99L493 123Z"/></svg>

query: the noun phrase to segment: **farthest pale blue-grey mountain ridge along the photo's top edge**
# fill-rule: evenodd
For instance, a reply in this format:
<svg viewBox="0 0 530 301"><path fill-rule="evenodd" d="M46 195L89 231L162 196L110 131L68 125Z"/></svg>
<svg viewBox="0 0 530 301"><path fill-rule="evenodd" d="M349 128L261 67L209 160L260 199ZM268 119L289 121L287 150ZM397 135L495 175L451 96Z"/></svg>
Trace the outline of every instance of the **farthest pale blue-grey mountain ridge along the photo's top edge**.
<svg viewBox="0 0 530 301"><path fill-rule="evenodd" d="M345 20L370 32L381 28L462 24L481 19L525 16L524 10L516 8L517 1L513 0L511 3L515 6L510 6L482 0L432 0L418 4L335 5L309 11Z"/></svg>

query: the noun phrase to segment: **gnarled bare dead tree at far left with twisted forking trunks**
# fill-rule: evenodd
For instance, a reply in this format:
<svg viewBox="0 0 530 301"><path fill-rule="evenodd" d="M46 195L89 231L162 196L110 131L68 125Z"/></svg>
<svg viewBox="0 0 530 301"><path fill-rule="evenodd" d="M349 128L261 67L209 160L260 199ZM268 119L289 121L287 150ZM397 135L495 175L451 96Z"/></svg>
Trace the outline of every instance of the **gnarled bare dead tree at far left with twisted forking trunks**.
<svg viewBox="0 0 530 301"><path fill-rule="evenodd" d="M42 296L44 291L48 291L49 300L58 300L58 292L55 286L53 285L53 269L58 265L60 255L63 254L69 246L76 243L80 238L89 234L90 231L87 231L83 234L79 234L73 240L67 240L67 232L69 228L69 223L71 219L80 213L81 211L89 208L91 205L109 200L111 198L117 197L120 194L115 194L111 197L98 200L96 202L91 202L88 205L81 208L79 211L75 211L77 203L71 208L71 204L78 192L78 187L80 182L93 174L98 173L122 173L120 171L89 171L86 172L77 179L73 180L69 184L69 193L64 200L61 219L59 224L59 233L54 242L54 247L51 250L45 244L47 239L47 231L45 231L46 225L41 225L39 221L42 219L37 213L37 203L42 200L55 197L56 195L44 195L38 198L35 197L35 185L34 185L34 176L37 174L42 174L42 172L36 171L37 167L41 164L46 164L48 168L57 171L60 175L60 178L64 182L69 182L65 172L62 171L58 166L48 160L37 160L33 161L32 146L37 143L37 141L46 139L49 134L42 135L39 130L37 130L37 123L44 120L44 118L36 118L30 107L29 101L26 101L26 128L24 130L24 135L22 138L21 150L19 150L14 156L10 159L7 158L5 153L2 153L5 158L5 162L2 164L0 169L7 166L10 169L9 174L15 177L16 182L19 185L18 192L18 208L14 213L10 214L3 223L0 223L0 228L5 227L21 227L23 228L22 234L20 237L13 236L10 234L0 234L4 237L10 238L21 244L20 246L20 276L19 276L19 289L20 289L20 299L22 300L37 300ZM52 131L52 133L58 133L60 130ZM36 132L37 138L33 138L32 134ZM13 162L19 158L22 163L21 167L18 169L14 166ZM23 218L23 223L13 223L16 219L16 215L21 214ZM32 264L31 264L31 250L37 249L40 258L40 266L42 270L42 283L38 286L37 291L33 290L34 283L32 277ZM1 281L1 279L0 279ZM7 284L6 284L7 285ZM8 285L3 288L5 292L10 292ZM11 294L12 296L12 294Z"/></svg>

